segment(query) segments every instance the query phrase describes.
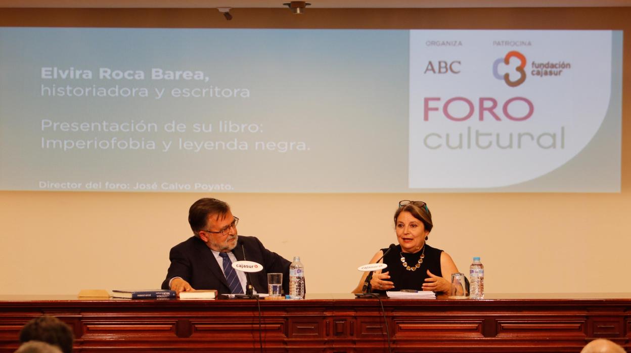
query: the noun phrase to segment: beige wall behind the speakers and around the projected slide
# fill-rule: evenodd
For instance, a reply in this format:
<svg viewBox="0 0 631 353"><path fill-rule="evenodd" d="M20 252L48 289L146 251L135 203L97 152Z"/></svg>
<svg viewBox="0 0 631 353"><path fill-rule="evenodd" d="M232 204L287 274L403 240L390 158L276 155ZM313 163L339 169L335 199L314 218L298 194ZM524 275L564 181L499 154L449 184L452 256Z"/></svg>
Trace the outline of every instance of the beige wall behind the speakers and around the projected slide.
<svg viewBox="0 0 631 353"><path fill-rule="evenodd" d="M187 210L228 201L239 233L286 258L300 255L309 292L348 292L358 265L396 242L401 199L424 200L430 244L466 272L486 267L487 292L631 292L631 8L606 9L0 9L3 26L520 28L625 30L622 193L175 194L0 192L0 294L158 287L168 250L190 235ZM606 158L606 156L603 156ZM586 171L589 172L589 171Z"/></svg>

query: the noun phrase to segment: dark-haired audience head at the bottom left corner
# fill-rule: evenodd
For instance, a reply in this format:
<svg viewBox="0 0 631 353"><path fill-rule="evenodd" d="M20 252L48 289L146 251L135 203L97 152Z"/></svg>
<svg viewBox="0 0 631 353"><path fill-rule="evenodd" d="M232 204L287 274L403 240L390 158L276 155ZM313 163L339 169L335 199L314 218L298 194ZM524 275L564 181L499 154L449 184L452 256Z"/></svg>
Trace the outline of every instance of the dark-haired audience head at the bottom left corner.
<svg viewBox="0 0 631 353"><path fill-rule="evenodd" d="M20 331L20 343L41 341L59 347L64 353L73 351L73 331L63 321L54 316L39 316Z"/></svg>

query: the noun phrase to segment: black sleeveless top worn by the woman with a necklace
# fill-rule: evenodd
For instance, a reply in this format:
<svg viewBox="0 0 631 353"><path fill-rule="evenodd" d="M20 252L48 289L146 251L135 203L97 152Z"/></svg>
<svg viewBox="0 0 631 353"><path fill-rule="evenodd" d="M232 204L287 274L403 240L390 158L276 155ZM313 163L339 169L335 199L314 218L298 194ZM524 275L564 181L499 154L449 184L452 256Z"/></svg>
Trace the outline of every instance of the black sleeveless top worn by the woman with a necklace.
<svg viewBox="0 0 631 353"><path fill-rule="evenodd" d="M387 249L381 249L384 253ZM418 259L421 257L423 253L423 249L418 251L418 253L409 254L403 253L403 257L405 261L408 263L408 266L414 267L416 263L418 263ZM427 270L430 270L434 275L442 277L442 271L440 270L440 254L442 250L432 248L425 243L425 257L423 258L423 263L420 264L419 268L416 268L415 271L408 271L405 267L403 267L403 262L401 262L401 245L397 245L396 248L392 249L385 257L384 263L387 268L381 270L382 273L389 272L390 281L394 283L394 288L389 289L391 291L397 291L401 289L415 289L415 290L423 290L423 283L425 282L425 278L429 277L427 275ZM373 293L382 293L385 294L385 290L372 290Z"/></svg>

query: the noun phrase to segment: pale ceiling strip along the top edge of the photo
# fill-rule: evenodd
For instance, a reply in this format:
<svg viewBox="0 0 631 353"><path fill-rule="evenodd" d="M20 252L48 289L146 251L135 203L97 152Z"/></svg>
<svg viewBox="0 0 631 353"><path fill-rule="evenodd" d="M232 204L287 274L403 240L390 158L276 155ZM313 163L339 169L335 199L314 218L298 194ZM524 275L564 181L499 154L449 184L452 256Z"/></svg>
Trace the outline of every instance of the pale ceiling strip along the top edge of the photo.
<svg viewBox="0 0 631 353"><path fill-rule="evenodd" d="M3 8L283 8L290 0L0 0ZM310 0L310 8L629 7L631 0Z"/></svg>

